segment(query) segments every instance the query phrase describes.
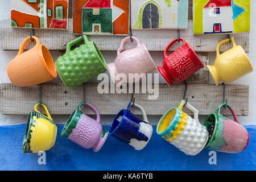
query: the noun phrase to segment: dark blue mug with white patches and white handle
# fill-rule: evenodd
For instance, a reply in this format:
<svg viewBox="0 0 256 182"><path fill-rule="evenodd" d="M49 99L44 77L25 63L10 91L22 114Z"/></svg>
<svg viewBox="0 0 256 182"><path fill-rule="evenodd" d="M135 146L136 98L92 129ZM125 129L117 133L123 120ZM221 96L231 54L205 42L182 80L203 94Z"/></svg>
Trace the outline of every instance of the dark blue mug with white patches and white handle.
<svg viewBox="0 0 256 182"><path fill-rule="evenodd" d="M131 102L128 109L123 109L115 116L110 126L110 135L123 143L129 144L135 150L142 150L149 142L153 128L148 123L147 115L142 106L134 104L143 115L143 121L131 113Z"/></svg>

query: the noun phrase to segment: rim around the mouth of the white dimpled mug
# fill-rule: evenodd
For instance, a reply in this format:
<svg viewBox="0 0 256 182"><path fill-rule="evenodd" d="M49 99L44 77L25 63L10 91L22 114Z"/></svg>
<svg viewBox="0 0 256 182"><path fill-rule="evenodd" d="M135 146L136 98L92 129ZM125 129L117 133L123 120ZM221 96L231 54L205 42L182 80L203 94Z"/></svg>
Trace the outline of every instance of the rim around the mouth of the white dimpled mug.
<svg viewBox="0 0 256 182"><path fill-rule="evenodd" d="M163 130L161 133L159 133L159 127L163 123L163 119L166 117L167 114L169 114L174 109L176 110L176 113L175 113L174 119L172 120L172 123L174 123L176 121L176 125L177 125L177 123L179 122L179 119L177 119L177 111L179 111L179 109L177 107L171 107L171 109L167 110L166 113L163 114L163 116L160 118L160 121L158 122L158 126L156 127L156 133L158 135L160 135L161 137L170 133L170 131L175 130L176 125L172 126L172 123L170 123L169 126L165 130Z"/></svg>

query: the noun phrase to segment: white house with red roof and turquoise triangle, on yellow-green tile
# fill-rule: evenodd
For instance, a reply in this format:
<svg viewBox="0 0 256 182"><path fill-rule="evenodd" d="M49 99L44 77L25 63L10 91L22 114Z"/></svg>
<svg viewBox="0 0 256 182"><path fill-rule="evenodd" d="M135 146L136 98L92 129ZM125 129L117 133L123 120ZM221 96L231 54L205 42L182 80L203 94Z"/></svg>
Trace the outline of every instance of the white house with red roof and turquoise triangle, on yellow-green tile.
<svg viewBox="0 0 256 182"><path fill-rule="evenodd" d="M203 7L204 34L230 34L234 32L234 20L245 9L233 0L210 0Z"/></svg>

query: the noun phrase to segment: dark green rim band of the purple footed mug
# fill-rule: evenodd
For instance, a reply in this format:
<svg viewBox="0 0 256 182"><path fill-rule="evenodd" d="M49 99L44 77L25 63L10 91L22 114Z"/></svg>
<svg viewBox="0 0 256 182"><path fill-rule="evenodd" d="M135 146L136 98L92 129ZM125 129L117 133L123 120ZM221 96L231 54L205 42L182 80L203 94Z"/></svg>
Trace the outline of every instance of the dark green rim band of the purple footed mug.
<svg viewBox="0 0 256 182"><path fill-rule="evenodd" d="M78 121L75 121L76 119L74 119L76 114L80 114ZM69 116L67 122L65 122L65 125L60 133L61 137L65 137L65 138L69 137L69 135L73 132L73 129L76 128L77 123L80 121L82 114L83 114L82 111L80 111L79 109L76 109L75 111L73 111L73 113Z"/></svg>

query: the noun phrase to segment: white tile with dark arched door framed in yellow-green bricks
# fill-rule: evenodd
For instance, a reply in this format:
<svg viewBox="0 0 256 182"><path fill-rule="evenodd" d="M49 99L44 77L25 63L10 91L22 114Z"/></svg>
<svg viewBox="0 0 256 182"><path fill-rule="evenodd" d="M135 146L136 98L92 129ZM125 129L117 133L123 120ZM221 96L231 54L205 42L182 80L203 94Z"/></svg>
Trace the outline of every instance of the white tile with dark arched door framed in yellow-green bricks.
<svg viewBox="0 0 256 182"><path fill-rule="evenodd" d="M188 27L188 0L131 0L133 29L185 29Z"/></svg>

